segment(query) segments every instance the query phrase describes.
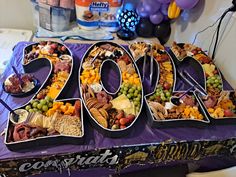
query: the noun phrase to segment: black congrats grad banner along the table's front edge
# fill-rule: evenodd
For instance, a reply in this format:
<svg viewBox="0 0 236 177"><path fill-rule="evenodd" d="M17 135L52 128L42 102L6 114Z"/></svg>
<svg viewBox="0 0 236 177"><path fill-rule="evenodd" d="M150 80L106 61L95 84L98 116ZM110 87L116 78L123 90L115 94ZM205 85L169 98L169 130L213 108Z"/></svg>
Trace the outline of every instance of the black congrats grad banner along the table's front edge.
<svg viewBox="0 0 236 177"><path fill-rule="evenodd" d="M120 172L132 164L159 164L197 161L210 156L234 155L236 139L223 141L182 141L132 145L111 149L2 161L0 177L28 176L49 171L81 170L96 167Z"/></svg>

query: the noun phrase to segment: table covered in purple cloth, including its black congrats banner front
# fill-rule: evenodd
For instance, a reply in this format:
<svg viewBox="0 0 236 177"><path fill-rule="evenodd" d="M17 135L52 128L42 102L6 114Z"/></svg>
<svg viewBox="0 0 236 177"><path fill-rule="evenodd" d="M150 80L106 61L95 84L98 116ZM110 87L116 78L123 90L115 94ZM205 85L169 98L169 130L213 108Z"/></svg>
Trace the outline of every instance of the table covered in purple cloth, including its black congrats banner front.
<svg viewBox="0 0 236 177"><path fill-rule="evenodd" d="M10 65L23 71L21 59L27 42L18 43L13 52ZM66 44L74 55L74 72L68 84L77 83L79 62L90 46L89 44ZM1 82L13 73L10 65L3 73ZM37 76L36 76L37 77ZM43 76L39 76L42 79ZM75 82L76 81L76 82ZM63 98L79 96L78 86L72 84L70 92L64 91ZM0 89L1 98L12 108L27 103L33 95L23 99L11 97ZM7 123L8 111L0 105L0 131ZM235 125L206 126L203 128L176 127L157 129L147 123L145 111L137 120L132 132L123 138L104 137L95 130L86 116L85 142L82 145L61 145L32 147L12 152L0 137L0 173L2 176L27 176L47 171L67 169L107 168L122 171L124 168L145 164L166 164L191 162L211 156L232 156L236 150Z"/></svg>

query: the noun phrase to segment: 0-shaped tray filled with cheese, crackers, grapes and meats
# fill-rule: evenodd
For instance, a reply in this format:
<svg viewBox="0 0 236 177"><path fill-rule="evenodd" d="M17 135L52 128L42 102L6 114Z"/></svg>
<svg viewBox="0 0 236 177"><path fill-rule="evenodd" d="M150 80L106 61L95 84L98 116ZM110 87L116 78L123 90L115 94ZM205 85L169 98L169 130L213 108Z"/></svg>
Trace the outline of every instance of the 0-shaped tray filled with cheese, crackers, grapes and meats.
<svg viewBox="0 0 236 177"><path fill-rule="evenodd" d="M127 135L143 105L140 74L131 55L118 44L95 43L84 54L78 76L91 123L105 136Z"/></svg>

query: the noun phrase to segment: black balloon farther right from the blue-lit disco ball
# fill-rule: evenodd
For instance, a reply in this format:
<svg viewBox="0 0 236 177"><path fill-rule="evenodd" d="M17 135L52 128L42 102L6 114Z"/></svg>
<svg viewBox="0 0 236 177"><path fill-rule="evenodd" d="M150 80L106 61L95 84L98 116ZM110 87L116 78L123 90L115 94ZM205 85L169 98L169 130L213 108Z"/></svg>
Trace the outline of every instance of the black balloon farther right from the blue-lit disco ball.
<svg viewBox="0 0 236 177"><path fill-rule="evenodd" d="M159 39L162 45L168 41L170 33L171 26L169 21L163 21L162 23L154 26L153 35Z"/></svg>

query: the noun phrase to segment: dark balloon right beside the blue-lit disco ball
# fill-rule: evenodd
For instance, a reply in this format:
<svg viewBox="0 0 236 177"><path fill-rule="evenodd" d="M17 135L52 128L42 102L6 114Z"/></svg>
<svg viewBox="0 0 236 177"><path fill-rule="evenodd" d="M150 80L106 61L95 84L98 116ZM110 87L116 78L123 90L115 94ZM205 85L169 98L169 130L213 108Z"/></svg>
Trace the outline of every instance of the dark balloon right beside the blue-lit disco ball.
<svg viewBox="0 0 236 177"><path fill-rule="evenodd" d="M149 18L141 18L136 26L136 33L140 37L152 37L154 25Z"/></svg>

